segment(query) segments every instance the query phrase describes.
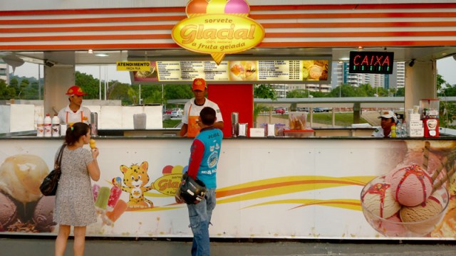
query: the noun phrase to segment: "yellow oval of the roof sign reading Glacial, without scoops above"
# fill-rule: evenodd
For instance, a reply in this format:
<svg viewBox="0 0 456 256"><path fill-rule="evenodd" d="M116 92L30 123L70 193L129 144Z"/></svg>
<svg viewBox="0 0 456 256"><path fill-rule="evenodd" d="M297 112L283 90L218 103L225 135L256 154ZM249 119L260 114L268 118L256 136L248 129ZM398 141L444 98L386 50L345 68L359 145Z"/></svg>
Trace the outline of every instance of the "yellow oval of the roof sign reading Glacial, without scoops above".
<svg viewBox="0 0 456 256"><path fill-rule="evenodd" d="M172 28L172 39L197 53L233 54L257 46L264 28L252 18L206 14L185 18Z"/></svg>

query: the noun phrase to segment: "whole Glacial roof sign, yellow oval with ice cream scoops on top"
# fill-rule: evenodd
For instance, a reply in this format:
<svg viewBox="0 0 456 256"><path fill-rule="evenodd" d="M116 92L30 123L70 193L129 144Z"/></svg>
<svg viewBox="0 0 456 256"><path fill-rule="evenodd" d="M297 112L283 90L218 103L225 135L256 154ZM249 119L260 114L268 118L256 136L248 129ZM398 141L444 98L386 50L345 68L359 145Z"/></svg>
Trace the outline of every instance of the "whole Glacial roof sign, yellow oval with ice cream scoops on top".
<svg viewBox="0 0 456 256"><path fill-rule="evenodd" d="M248 18L245 0L191 0L187 17L172 28L172 39L182 48L212 55L217 65L224 55L257 46L264 38L261 24Z"/></svg>

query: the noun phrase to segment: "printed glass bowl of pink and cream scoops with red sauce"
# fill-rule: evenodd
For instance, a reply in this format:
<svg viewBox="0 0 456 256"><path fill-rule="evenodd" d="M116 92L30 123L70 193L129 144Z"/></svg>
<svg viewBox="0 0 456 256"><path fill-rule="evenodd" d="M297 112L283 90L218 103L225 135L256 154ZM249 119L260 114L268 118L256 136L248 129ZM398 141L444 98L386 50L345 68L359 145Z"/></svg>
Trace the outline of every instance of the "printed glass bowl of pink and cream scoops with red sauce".
<svg viewBox="0 0 456 256"><path fill-rule="evenodd" d="M433 148L430 142L410 146L398 166L363 188L361 206L368 223L389 237L440 237L444 226L454 227L456 216L445 213L455 208L450 182L455 159L455 152Z"/></svg>

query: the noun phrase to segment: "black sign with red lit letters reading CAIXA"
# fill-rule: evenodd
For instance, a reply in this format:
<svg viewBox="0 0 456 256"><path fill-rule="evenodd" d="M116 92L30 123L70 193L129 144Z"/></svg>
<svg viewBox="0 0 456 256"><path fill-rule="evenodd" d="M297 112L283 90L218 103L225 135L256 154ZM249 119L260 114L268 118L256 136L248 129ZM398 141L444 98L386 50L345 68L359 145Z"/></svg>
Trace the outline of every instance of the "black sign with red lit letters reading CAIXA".
<svg viewBox="0 0 456 256"><path fill-rule="evenodd" d="M348 73L392 74L394 53L388 52L350 52Z"/></svg>

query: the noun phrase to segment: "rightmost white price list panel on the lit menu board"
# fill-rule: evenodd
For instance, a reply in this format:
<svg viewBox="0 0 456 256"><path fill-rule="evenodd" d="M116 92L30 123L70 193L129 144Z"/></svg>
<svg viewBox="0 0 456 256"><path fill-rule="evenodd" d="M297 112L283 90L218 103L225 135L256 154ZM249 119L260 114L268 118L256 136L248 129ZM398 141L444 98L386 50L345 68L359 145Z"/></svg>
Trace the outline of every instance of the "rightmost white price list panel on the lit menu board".
<svg viewBox="0 0 456 256"><path fill-rule="evenodd" d="M259 60L258 80L301 80L301 63L299 60Z"/></svg>

